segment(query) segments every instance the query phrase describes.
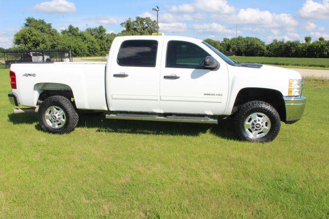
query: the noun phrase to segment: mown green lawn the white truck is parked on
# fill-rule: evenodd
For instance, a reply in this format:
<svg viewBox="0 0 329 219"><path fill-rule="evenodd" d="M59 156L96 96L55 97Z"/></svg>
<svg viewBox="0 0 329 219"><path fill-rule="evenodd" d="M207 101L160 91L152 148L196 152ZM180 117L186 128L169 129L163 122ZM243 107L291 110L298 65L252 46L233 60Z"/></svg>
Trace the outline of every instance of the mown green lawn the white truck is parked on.
<svg viewBox="0 0 329 219"><path fill-rule="evenodd" d="M329 82L268 144L220 125L83 116L65 135L12 114L0 70L0 218L329 217Z"/></svg>

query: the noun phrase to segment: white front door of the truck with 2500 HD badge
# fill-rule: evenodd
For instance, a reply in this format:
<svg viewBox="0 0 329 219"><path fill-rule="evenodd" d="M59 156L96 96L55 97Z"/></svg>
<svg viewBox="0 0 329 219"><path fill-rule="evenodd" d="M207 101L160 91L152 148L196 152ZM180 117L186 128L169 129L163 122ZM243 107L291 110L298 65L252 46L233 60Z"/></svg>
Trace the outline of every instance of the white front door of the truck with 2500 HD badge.
<svg viewBox="0 0 329 219"><path fill-rule="evenodd" d="M198 44L197 44L198 43ZM165 113L223 114L228 95L226 63L202 42L163 42L160 75L160 107ZM220 67L204 68L206 56Z"/></svg>

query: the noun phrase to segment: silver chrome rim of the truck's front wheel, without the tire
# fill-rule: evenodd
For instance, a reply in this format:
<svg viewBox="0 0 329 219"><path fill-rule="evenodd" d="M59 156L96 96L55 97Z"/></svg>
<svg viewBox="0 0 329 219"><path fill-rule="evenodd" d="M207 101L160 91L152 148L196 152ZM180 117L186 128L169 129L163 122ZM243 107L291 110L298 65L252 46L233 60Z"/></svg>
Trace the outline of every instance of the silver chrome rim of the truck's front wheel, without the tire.
<svg viewBox="0 0 329 219"><path fill-rule="evenodd" d="M271 121L264 113L252 113L245 120L245 131L252 138L264 137L270 129Z"/></svg>

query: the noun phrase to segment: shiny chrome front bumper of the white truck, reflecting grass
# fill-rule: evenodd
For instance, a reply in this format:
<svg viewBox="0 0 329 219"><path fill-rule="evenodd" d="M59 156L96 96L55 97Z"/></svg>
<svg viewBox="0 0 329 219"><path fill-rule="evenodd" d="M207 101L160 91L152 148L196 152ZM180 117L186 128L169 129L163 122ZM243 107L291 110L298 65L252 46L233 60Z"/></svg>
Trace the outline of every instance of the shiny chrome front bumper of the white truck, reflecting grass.
<svg viewBox="0 0 329 219"><path fill-rule="evenodd" d="M284 96L284 103L286 106L286 123L292 124L299 121L304 113L306 106L306 97L287 97Z"/></svg>

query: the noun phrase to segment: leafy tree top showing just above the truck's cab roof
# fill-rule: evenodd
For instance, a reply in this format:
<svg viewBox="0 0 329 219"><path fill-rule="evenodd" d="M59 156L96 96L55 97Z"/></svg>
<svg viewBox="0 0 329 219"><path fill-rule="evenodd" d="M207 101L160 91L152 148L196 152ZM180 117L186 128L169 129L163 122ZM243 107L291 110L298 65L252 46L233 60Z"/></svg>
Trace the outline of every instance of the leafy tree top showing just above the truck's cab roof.
<svg viewBox="0 0 329 219"><path fill-rule="evenodd" d="M121 35L152 35L157 32L156 21L152 21L150 17L136 17L135 21L131 18L121 23L124 30Z"/></svg>

